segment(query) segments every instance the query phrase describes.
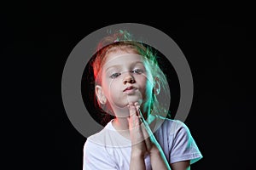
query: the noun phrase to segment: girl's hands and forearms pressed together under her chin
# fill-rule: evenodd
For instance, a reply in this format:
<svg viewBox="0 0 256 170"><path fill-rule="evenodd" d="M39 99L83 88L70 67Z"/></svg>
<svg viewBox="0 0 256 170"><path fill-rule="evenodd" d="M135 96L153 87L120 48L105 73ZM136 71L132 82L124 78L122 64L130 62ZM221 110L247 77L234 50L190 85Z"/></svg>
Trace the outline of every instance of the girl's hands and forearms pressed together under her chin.
<svg viewBox="0 0 256 170"><path fill-rule="evenodd" d="M130 136L131 136L131 162L130 169L145 169L144 156L149 153L151 160L151 167L153 169L171 169L166 157L157 140L154 139L154 134L148 127L147 122L140 121L139 108L130 105L130 117L128 118ZM141 124L141 122L144 122ZM148 129L148 130L146 130ZM149 132L148 132L149 131ZM151 132L151 133L150 133ZM148 136L148 133L150 134ZM153 139L151 139L153 138ZM154 142L152 142L153 140Z"/></svg>

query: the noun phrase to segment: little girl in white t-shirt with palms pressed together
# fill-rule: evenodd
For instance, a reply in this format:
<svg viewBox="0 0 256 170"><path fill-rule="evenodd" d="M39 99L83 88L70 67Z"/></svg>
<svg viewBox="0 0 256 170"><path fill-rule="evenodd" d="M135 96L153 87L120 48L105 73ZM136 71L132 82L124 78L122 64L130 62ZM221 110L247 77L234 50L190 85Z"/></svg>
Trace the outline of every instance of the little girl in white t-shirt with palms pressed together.
<svg viewBox="0 0 256 170"><path fill-rule="evenodd" d="M96 100L114 118L86 140L83 169L185 170L200 160L189 128L166 118L158 102L168 83L152 50L127 31L104 38L97 49Z"/></svg>

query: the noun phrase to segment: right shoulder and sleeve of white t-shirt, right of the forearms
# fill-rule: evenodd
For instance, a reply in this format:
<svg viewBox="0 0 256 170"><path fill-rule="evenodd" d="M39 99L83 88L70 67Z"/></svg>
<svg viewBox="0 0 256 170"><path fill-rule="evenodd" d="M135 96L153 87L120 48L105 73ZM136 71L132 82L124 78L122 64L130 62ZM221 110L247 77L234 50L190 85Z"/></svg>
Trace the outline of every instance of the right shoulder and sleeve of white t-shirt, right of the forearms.
<svg viewBox="0 0 256 170"><path fill-rule="evenodd" d="M171 163L190 160L192 164L202 158L195 139L184 122L164 118L157 135L164 150L166 148Z"/></svg>

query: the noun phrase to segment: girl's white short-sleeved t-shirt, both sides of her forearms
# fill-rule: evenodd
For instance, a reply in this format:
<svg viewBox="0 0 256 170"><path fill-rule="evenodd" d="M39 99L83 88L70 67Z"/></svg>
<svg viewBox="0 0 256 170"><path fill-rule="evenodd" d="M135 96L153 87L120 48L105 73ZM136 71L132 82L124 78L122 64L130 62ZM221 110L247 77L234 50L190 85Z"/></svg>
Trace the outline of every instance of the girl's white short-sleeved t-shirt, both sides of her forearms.
<svg viewBox="0 0 256 170"><path fill-rule="evenodd" d="M125 139L108 122L101 132L91 135L84 144L83 170L129 169L131 140ZM167 161L190 160L190 164L202 158L189 128L178 120L166 119L154 132L166 155ZM146 169L151 169L150 157L145 157Z"/></svg>

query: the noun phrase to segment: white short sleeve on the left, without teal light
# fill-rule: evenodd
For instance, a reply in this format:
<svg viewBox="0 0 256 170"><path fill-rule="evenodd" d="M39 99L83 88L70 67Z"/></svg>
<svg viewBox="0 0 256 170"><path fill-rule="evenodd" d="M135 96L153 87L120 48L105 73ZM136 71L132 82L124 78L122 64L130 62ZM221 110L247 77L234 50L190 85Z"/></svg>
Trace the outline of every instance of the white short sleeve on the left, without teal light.
<svg viewBox="0 0 256 170"><path fill-rule="evenodd" d="M117 169L104 146L87 139L84 144L83 170Z"/></svg>

